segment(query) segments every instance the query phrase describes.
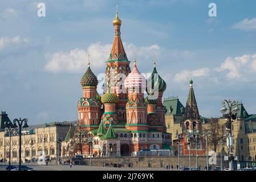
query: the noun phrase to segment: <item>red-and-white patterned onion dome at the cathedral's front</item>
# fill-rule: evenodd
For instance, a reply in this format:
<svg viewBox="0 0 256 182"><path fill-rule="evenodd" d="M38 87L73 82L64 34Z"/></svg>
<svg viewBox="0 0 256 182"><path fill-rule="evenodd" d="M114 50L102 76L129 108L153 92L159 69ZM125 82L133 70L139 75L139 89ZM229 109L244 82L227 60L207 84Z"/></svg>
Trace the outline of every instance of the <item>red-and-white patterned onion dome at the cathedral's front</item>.
<svg viewBox="0 0 256 182"><path fill-rule="evenodd" d="M146 88L146 78L137 69L136 60L134 61L132 72L124 80L124 86L127 89L144 90Z"/></svg>

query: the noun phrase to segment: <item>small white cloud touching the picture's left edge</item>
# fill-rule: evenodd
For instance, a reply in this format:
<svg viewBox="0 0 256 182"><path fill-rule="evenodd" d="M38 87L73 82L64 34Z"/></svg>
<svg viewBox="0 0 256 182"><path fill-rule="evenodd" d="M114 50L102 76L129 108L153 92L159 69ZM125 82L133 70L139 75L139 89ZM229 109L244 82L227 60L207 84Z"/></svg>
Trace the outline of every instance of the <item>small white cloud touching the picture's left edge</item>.
<svg viewBox="0 0 256 182"><path fill-rule="evenodd" d="M8 38L8 37L3 37L0 38L0 51L4 48L6 48L7 46L11 46L13 44L21 44L21 43L29 43L30 42L30 38L20 38L19 35L18 36L14 36L13 38Z"/></svg>

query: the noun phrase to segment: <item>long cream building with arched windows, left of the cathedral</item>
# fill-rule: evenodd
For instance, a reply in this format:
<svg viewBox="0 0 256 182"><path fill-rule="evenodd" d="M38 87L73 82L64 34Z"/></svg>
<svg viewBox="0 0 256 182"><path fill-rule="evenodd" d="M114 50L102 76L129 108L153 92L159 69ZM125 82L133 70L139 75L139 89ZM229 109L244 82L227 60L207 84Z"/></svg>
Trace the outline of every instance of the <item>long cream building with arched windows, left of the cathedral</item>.
<svg viewBox="0 0 256 182"><path fill-rule="evenodd" d="M0 160L18 163L19 161L19 135L18 131L13 131L11 137L5 132L5 123L10 121L5 112L1 114L1 131L0 131ZM74 125L74 122L52 122L42 125L31 125L29 128L22 131L22 162L36 162L38 158L44 155L47 159L55 160L60 156L61 148L59 139L64 139L68 130ZM11 142L10 142L11 140ZM10 151L11 145L11 151ZM59 154L58 154L59 152Z"/></svg>

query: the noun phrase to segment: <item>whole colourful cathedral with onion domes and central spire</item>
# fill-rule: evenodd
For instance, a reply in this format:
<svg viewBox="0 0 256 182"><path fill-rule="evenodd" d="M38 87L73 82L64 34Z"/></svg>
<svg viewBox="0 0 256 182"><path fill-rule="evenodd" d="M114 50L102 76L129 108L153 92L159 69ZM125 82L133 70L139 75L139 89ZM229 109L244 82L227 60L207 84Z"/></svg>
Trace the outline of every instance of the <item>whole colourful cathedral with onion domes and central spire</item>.
<svg viewBox="0 0 256 182"><path fill-rule="evenodd" d="M83 97L78 101L78 125L93 138L92 147L84 147L84 154L129 156L141 150L170 148L172 143L171 134L166 133L166 109L162 105L166 83L158 75L155 61L148 80L141 75L136 60L131 71L121 41L121 23L116 12L115 38L105 61L103 96L97 93L98 80L90 62L81 79ZM144 90L149 95L146 98ZM153 98L153 94L157 97Z"/></svg>

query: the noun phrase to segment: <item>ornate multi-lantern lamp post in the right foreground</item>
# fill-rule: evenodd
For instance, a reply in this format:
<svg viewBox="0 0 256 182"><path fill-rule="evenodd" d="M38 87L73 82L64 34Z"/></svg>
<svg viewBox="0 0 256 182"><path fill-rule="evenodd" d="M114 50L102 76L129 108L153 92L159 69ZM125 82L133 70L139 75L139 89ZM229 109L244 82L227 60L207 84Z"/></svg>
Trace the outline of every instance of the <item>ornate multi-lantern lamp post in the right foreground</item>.
<svg viewBox="0 0 256 182"><path fill-rule="evenodd" d="M232 122L235 121L237 118L237 112L239 111L239 108L237 107L238 102L237 101L232 101L232 100L224 100L222 101L222 108L221 108L221 113L223 114L222 118L226 118L226 123L224 126L226 127L226 131L228 134L227 137L227 147L229 149L229 171L233 170L233 133L232 133ZM227 105L227 107L226 107ZM232 110L232 107L234 109Z"/></svg>

